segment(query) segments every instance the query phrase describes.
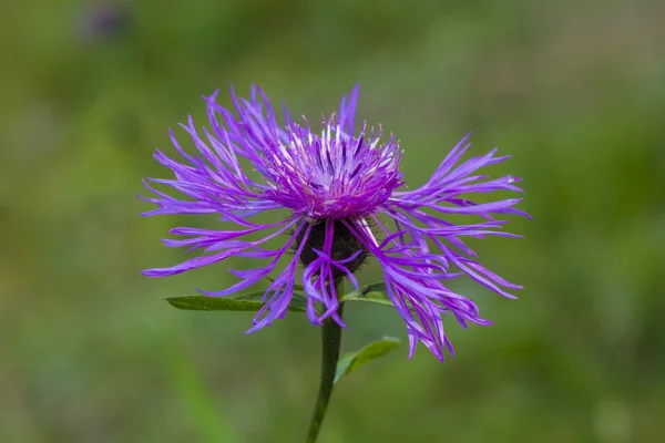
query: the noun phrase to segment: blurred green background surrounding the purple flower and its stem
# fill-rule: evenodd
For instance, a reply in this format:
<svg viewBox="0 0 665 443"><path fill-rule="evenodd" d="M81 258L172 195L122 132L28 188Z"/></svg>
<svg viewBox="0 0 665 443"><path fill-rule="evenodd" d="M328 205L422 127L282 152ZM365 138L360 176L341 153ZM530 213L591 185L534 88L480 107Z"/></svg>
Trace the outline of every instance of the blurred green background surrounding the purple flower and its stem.
<svg viewBox="0 0 665 443"><path fill-rule="evenodd" d="M202 94L258 83L316 121L356 82L411 186L473 131L473 154L513 155L490 173L524 178L534 222L475 244L519 300L458 286L495 324L449 321L444 364L405 346L350 374L320 441L659 441L664 18L656 0L2 2L0 441L301 441L319 330L167 306L233 281L139 274L183 258L167 229L215 218L140 218L134 194L167 174L170 126L207 124ZM389 309L347 319L344 350L405 337Z"/></svg>

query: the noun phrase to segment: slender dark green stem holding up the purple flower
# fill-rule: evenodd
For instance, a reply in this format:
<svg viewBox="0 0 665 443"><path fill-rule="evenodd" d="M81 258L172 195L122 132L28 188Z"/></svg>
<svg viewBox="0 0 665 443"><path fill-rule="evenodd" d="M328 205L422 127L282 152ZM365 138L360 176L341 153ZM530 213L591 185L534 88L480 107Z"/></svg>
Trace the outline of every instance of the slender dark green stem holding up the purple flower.
<svg viewBox="0 0 665 443"><path fill-rule="evenodd" d="M339 279L335 282L335 292L337 297L341 297L344 290L344 281ZM344 303L339 305L337 315L341 318ZM341 327L331 318L324 320L321 327L321 378L319 382L319 393L316 399L316 406L311 422L309 422L309 432L307 433L307 443L315 443L318 436L328 402L332 394L332 385L335 384L335 372L337 371L337 360L339 360L339 346L341 344Z"/></svg>

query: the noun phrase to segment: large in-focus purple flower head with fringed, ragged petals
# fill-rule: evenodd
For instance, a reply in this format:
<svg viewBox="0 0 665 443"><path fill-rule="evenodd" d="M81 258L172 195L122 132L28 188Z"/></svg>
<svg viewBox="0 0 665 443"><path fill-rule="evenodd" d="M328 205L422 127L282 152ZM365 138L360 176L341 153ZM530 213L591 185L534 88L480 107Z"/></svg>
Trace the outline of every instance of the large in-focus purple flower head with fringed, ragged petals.
<svg viewBox="0 0 665 443"><path fill-rule="evenodd" d="M288 265L266 290L266 305L248 332L286 315L299 264L311 322L320 324L330 317L344 326L337 315L341 295L335 293L334 281L346 277L358 289L354 274L374 256L383 269L388 297L407 323L409 357L420 341L439 360L443 360L446 348L454 356L443 316L454 316L463 327L490 323L480 317L473 301L449 289L446 280L466 274L514 298L505 289L520 287L485 269L463 243L464 237L485 235L519 237L501 230L507 222L495 217L528 216L514 208L520 198L483 204L463 198L469 193L521 192L515 186L518 177L488 179L477 173L508 156L497 157L493 150L460 163L469 147L467 135L424 185L398 190L405 187L399 172L403 151L393 136L382 141L381 131L375 132L366 123L356 133L358 86L341 100L338 115L323 119L320 132L310 128L307 121L295 123L286 110L286 122L279 125L268 99L256 86L250 100L238 99L232 91L236 115L218 105L216 96L217 92L204 97L211 130L198 132L192 117L182 125L197 154L187 154L173 133L171 138L184 162L161 151L155 153L175 178L150 182L171 186L188 198L172 197L144 182L155 194L144 199L158 206L144 215L215 214L223 230L172 229L171 234L186 238L165 239L166 246L203 249L204 254L170 268L145 270L144 275L172 276L229 257L269 260L254 269L229 269L239 281L224 290L201 291L222 297L264 279L287 256ZM247 171L252 173L242 167L243 163L250 164ZM278 222L253 220L267 212L275 212ZM461 225L447 220L448 215L477 216L480 220ZM246 239L256 233L260 239ZM266 241L283 235L287 239L280 248L265 247Z"/></svg>

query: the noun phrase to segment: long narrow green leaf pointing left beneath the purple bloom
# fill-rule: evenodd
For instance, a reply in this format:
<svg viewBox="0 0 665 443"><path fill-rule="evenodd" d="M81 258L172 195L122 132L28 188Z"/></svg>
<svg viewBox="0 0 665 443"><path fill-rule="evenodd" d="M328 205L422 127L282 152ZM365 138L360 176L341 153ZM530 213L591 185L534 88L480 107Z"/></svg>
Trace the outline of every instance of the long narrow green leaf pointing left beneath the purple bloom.
<svg viewBox="0 0 665 443"><path fill-rule="evenodd" d="M265 306L262 302L264 291L242 293L234 297L184 296L168 297L166 301L177 309L188 311L252 311L256 312ZM270 295L266 297L269 300ZM294 292L288 306L289 311L305 312L307 298L300 292Z"/></svg>

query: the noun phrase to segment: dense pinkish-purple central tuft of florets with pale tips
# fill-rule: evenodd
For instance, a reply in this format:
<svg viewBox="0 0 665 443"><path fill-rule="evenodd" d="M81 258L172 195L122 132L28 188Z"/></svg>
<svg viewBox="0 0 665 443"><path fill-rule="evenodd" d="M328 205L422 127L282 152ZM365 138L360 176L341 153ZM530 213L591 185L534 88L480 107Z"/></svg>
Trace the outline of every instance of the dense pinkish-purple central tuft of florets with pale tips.
<svg viewBox="0 0 665 443"><path fill-rule="evenodd" d="M293 124L265 152L266 197L311 218L364 217L402 186L401 152L393 137L380 144L374 130L359 137L324 122L320 135Z"/></svg>

